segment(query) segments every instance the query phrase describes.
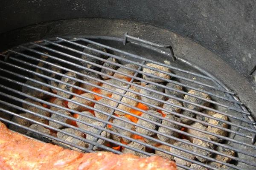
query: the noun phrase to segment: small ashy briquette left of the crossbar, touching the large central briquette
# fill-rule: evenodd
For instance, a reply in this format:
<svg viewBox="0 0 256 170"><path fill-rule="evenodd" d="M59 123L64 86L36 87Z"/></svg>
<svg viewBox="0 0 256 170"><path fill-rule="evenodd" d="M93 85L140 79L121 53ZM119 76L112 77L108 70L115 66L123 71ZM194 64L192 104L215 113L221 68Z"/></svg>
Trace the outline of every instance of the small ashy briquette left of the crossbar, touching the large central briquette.
<svg viewBox="0 0 256 170"><path fill-rule="evenodd" d="M111 101L109 99L102 98L102 99L99 99L98 102L102 102L106 105L109 105ZM108 113L108 114L110 114L111 111L113 110L111 108L108 108L107 106L99 105L97 103L94 105L94 108L96 108L100 111L103 111L105 113ZM102 119L102 120L107 120L108 119L108 116L105 115L105 114L99 113L97 111L94 111L94 113L95 113L95 117L97 117L99 119Z"/></svg>

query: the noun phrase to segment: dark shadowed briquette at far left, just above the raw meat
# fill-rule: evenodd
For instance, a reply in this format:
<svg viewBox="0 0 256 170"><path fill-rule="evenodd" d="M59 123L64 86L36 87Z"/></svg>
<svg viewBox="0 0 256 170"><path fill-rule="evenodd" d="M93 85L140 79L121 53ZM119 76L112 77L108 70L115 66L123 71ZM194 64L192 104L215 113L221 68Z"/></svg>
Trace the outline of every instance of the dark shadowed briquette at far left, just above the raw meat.
<svg viewBox="0 0 256 170"><path fill-rule="evenodd" d="M19 115L23 116L23 117L26 117L26 113L20 113ZM13 116L11 121L15 122L15 123L17 123L19 125L26 126L26 127L30 126L30 122L29 121L27 121L26 119L21 119L21 118L19 118L17 116ZM13 124L9 125L9 129L14 130L14 131L16 131L18 133L22 133L22 134L26 134L27 133L26 129L23 129L23 128L18 127L18 126L13 125Z"/></svg>

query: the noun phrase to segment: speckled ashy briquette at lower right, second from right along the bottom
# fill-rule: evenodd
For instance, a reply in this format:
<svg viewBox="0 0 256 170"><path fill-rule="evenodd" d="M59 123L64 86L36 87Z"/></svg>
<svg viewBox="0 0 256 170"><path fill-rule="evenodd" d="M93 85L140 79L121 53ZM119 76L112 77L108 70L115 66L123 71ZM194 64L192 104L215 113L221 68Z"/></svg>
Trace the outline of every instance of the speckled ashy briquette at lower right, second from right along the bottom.
<svg viewBox="0 0 256 170"><path fill-rule="evenodd" d="M204 139L208 139L210 140L210 138L208 136L204 136ZM193 140L193 144L197 144L199 146L202 146L202 147L206 147L208 149L212 149L214 150L214 145L212 143L209 143L209 142L205 142L205 141L202 141L200 139L194 139ZM203 150L201 148L198 148L198 147L194 147L193 146L193 151L195 153L199 153L203 156L208 156L208 157L211 157L212 156L212 153L207 151L207 150ZM208 159L205 159L204 157L200 157L200 156L195 156L199 161L201 162L206 162Z"/></svg>

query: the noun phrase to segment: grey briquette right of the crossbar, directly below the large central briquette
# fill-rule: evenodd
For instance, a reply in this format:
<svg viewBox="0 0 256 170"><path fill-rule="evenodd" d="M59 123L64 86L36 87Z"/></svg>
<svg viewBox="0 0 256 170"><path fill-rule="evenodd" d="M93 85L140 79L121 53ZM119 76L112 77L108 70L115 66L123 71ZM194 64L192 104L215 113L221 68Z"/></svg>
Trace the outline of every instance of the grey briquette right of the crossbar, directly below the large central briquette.
<svg viewBox="0 0 256 170"><path fill-rule="evenodd" d="M119 118L124 119L128 122L131 122L131 120L128 119L127 117L125 117L125 116L120 116ZM130 123L127 123L127 122L123 122L122 120L119 120L119 119L114 119L113 124L122 126L124 128L129 129L129 130L134 130L134 125L131 125ZM127 137L130 137L132 135L131 132L128 132L127 130L120 129L120 128L115 127L115 126L111 126L110 129L113 130L113 131L116 131L117 133L119 133L121 135L127 136ZM113 134L111 134L111 136L113 136ZM116 136L116 135L114 135L114 136ZM122 140L126 143L131 142L129 139L125 139L125 138L122 138Z"/></svg>

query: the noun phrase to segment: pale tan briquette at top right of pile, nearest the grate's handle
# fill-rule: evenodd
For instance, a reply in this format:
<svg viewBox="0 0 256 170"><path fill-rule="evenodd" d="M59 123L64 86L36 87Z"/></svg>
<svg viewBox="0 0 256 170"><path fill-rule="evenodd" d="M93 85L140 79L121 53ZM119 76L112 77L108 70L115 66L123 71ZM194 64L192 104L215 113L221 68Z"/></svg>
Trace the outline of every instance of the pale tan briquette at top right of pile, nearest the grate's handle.
<svg viewBox="0 0 256 170"><path fill-rule="evenodd" d="M156 68L157 70L166 71L168 73L172 72L169 68L164 67L162 65L157 65L157 64L154 64L154 63L148 63L146 65L149 66L149 67ZM143 72L148 73L148 74L153 74L154 76L161 77L161 78L164 78L164 79L171 79L170 75L160 73L159 71L154 71L154 70L151 70L149 68L143 68ZM166 82L165 80L157 79L155 77L147 76L145 74L143 74L143 79L146 79L146 80L151 81L151 82Z"/></svg>

